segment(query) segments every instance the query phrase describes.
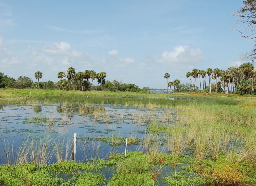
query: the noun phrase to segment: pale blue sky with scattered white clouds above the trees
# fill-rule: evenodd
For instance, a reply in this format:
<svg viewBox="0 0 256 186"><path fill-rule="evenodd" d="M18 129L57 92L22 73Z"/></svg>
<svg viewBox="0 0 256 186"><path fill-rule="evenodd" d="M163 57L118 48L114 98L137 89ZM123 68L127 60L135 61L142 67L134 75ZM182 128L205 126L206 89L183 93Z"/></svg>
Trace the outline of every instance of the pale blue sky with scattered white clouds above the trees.
<svg viewBox="0 0 256 186"><path fill-rule="evenodd" d="M197 68L226 70L254 42L240 37L243 0L0 0L0 72L106 72L106 80L166 88Z"/></svg>

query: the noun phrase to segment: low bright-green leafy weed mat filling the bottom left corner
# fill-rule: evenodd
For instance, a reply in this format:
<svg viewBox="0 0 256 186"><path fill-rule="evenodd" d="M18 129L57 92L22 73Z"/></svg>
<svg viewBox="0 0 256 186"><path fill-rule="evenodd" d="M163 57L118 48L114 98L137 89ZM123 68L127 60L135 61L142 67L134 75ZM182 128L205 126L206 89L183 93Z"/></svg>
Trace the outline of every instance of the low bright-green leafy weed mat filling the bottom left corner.
<svg viewBox="0 0 256 186"><path fill-rule="evenodd" d="M73 161L35 166L34 164L0 166L0 184L6 186L99 186L105 177L97 165Z"/></svg>

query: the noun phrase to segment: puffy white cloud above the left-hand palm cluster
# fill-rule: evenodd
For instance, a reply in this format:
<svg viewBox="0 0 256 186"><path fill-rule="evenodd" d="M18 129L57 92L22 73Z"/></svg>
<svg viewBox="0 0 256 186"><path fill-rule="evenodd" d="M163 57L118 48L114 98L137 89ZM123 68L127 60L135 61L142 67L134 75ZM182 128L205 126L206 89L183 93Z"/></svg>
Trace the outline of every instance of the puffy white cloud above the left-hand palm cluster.
<svg viewBox="0 0 256 186"><path fill-rule="evenodd" d="M67 42L46 45L42 48L42 52L53 56L80 57L82 55L81 52L73 50Z"/></svg>

